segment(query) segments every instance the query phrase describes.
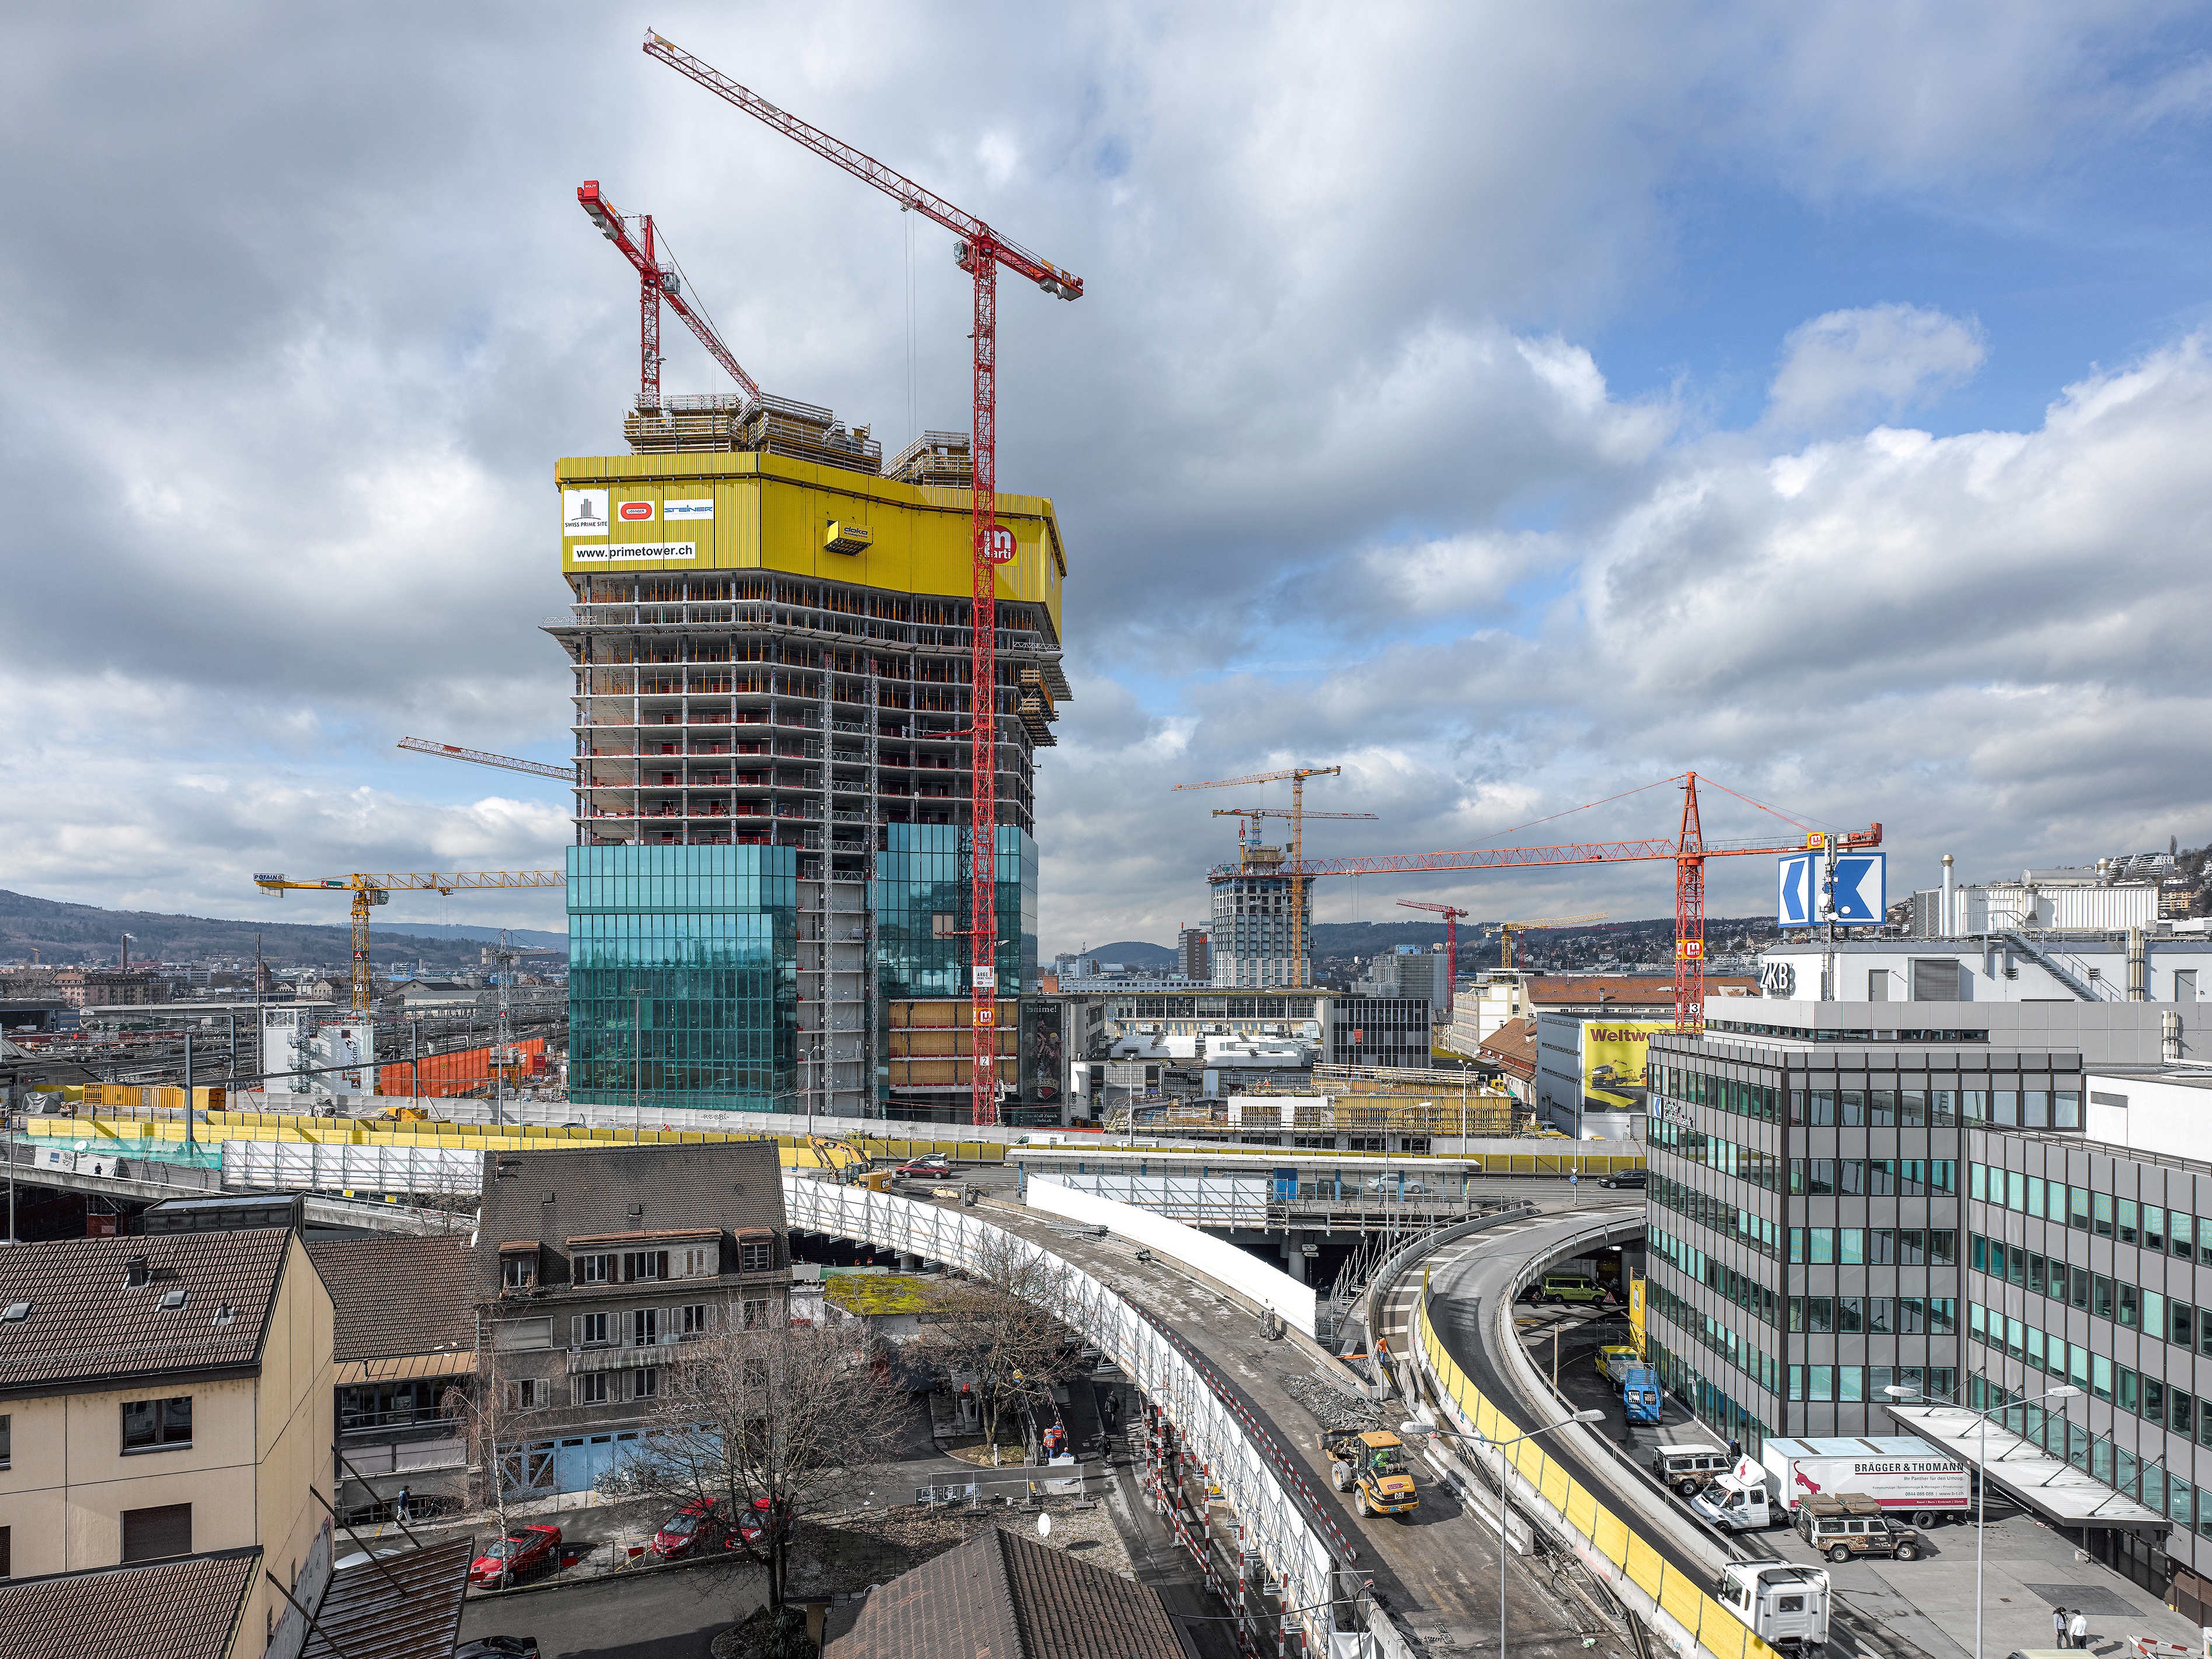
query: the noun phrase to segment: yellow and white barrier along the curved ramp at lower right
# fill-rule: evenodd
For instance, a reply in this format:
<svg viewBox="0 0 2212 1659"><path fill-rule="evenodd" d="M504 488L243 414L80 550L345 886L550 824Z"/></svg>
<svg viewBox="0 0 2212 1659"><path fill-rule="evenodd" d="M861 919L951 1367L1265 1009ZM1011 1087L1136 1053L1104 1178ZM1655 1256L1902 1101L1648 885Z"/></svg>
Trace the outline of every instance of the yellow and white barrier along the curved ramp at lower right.
<svg viewBox="0 0 2212 1659"><path fill-rule="evenodd" d="M1420 1354L1460 1433L1478 1436L1486 1447L1520 1438L1522 1427L1500 1411L1444 1349L1444 1338L1429 1321L1427 1285L1420 1287L1413 1321L1413 1352ZM1471 1462L1498 1469L1498 1453L1482 1451ZM1774 1657L1774 1648L1714 1601L1699 1579L1668 1564L1644 1537L1628 1531L1628 1522L1599 1504L1542 1440L1522 1440L1504 1453L1504 1462L1515 1495L1537 1524L1606 1579L1613 1593L1672 1648L1697 1659Z"/></svg>

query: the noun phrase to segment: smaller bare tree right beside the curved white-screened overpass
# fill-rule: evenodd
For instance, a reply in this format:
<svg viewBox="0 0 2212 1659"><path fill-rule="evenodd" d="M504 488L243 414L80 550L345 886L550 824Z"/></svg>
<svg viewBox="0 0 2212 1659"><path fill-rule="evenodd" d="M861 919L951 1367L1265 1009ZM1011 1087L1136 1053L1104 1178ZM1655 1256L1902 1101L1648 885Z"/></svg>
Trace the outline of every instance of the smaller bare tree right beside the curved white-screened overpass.
<svg viewBox="0 0 2212 1659"><path fill-rule="evenodd" d="M984 1447L998 1462L1000 1425L1022 1405L1051 1407L1053 1385L1075 1371L1075 1336L1048 1310L1066 1307L1073 1274L1018 1239L982 1245L967 1279L940 1285L938 1325L925 1347L953 1376L973 1376Z"/></svg>

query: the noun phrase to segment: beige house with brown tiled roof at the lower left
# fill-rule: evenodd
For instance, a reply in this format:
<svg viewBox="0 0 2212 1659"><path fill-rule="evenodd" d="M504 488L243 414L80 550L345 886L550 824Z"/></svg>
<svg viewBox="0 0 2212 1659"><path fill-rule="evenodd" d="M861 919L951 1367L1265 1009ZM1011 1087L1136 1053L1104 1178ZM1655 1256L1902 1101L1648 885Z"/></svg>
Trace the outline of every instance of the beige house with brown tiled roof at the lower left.
<svg viewBox="0 0 2212 1659"><path fill-rule="evenodd" d="M330 1575L330 1352L290 1228L0 1250L0 1573L259 1551L268 1641Z"/></svg>

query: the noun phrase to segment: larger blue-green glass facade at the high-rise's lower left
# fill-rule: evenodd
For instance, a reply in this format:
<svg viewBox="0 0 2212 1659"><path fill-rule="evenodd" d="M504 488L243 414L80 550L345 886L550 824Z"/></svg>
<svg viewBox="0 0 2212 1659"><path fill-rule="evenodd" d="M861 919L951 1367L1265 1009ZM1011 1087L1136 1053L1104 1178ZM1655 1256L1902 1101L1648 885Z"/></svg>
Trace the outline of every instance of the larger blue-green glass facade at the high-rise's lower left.
<svg viewBox="0 0 2212 1659"><path fill-rule="evenodd" d="M796 1088L799 849L568 847L568 1097L772 1113Z"/></svg>

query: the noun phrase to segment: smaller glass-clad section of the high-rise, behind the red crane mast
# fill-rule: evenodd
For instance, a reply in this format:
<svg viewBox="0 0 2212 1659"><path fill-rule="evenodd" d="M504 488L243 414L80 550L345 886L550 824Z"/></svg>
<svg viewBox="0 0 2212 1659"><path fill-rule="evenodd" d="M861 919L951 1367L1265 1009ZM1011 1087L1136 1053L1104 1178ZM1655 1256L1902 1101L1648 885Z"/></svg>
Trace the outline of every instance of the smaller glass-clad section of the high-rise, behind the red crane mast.
<svg viewBox="0 0 2212 1659"><path fill-rule="evenodd" d="M969 885L962 830L953 823L894 823L876 854L878 987L896 998L962 998L969 969ZM1037 982L1037 843L998 832L998 993Z"/></svg>

